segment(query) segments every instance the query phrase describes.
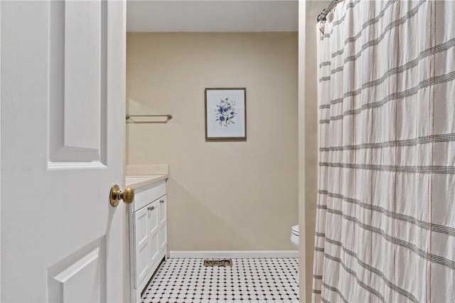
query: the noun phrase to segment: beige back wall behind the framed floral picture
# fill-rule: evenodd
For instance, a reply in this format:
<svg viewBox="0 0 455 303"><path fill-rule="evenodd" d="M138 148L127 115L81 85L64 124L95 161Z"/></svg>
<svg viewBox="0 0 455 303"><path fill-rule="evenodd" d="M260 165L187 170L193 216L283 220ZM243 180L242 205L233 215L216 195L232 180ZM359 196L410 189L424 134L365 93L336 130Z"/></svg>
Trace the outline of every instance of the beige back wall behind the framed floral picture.
<svg viewBox="0 0 455 303"><path fill-rule="evenodd" d="M169 250L294 250L297 33L128 33L127 164L170 164ZM205 87L247 87L247 142L205 142Z"/></svg>

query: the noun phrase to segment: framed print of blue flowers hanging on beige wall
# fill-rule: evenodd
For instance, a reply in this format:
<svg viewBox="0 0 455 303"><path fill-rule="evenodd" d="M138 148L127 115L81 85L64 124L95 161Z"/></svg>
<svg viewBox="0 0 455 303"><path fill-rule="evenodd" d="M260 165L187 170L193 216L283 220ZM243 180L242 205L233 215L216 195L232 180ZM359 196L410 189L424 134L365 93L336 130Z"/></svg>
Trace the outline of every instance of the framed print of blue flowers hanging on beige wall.
<svg viewBox="0 0 455 303"><path fill-rule="evenodd" d="M205 141L247 140L247 89L205 88Z"/></svg>

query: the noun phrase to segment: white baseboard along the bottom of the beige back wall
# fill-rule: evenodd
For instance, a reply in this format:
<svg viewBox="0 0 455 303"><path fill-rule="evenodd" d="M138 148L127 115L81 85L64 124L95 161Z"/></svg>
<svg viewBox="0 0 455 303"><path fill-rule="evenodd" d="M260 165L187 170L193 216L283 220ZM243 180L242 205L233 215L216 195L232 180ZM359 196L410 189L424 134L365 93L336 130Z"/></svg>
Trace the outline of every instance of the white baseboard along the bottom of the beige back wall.
<svg viewBox="0 0 455 303"><path fill-rule="evenodd" d="M170 251L169 257L235 259L249 257L299 257L299 250L178 250Z"/></svg>

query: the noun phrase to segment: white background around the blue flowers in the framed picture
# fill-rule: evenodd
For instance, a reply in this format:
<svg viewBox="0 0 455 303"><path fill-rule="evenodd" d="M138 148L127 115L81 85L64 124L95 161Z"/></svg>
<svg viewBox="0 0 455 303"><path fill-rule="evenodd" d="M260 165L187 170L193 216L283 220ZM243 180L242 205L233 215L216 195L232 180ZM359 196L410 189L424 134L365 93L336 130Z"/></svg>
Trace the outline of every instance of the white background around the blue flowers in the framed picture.
<svg viewBox="0 0 455 303"><path fill-rule="evenodd" d="M207 137L245 137L245 90L206 90L207 93ZM235 101L237 115L232 119L234 124L220 125L216 121L216 105L226 97Z"/></svg>

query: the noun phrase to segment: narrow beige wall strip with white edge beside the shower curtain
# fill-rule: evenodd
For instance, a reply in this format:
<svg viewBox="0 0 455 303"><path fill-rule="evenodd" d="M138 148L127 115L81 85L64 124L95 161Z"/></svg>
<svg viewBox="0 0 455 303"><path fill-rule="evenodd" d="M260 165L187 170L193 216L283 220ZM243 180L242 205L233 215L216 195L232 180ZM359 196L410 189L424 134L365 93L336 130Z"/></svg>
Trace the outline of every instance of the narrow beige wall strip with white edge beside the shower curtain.
<svg viewBox="0 0 455 303"><path fill-rule="evenodd" d="M299 1L299 129L304 129L299 133L299 159L305 159L299 163L299 184L305 184L299 188L300 280L304 281L300 287L301 302L311 302L318 188L316 16L329 3Z"/></svg>

